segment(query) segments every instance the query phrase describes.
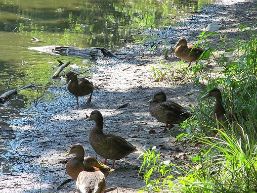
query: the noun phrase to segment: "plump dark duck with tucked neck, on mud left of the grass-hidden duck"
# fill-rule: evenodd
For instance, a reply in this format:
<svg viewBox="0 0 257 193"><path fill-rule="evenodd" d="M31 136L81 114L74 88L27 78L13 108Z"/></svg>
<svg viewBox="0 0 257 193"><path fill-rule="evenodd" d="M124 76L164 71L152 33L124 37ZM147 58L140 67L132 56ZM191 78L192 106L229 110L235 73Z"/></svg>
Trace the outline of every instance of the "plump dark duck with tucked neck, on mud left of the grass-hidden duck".
<svg viewBox="0 0 257 193"><path fill-rule="evenodd" d="M188 119L192 113L184 109L182 106L175 102L166 101L166 95L164 92L159 92L154 95L154 97L149 100L149 112L153 115L158 121L165 123L163 130L158 133L165 132L169 125L171 129L173 124L183 123Z"/></svg>

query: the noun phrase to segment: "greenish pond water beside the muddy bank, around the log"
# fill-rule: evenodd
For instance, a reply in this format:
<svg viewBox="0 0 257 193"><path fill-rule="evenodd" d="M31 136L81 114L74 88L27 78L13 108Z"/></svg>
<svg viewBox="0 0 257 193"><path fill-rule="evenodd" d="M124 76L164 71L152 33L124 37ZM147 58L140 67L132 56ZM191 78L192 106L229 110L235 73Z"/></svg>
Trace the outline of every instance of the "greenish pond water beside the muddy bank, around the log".
<svg viewBox="0 0 257 193"><path fill-rule="evenodd" d="M2 0L0 1L0 95L31 83L10 101L0 104L0 173L11 172L4 157L8 139L15 137L13 120L29 114L31 101L47 88L63 86L49 79L56 71L56 58L29 47L63 45L118 50L140 42L146 28L175 25L210 0ZM124 4L125 3L125 4ZM33 43L32 37L39 43ZM84 71L90 61L59 56ZM22 61L28 62L24 63ZM67 72L65 69L62 74ZM47 93L47 90L46 90ZM52 94L51 94L52 95Z"/></svg>

